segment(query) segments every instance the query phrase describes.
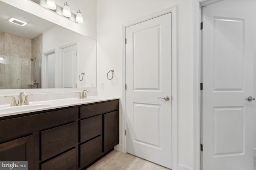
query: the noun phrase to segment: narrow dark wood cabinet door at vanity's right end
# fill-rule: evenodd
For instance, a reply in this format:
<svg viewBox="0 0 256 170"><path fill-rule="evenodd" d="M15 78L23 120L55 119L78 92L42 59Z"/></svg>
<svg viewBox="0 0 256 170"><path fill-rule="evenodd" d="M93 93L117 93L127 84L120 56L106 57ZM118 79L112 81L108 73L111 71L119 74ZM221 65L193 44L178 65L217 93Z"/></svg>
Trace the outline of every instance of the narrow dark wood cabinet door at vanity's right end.
<svg viewBox="0 0 256 170"><path fill-rule="evenodd" d="M104 152L119 143L118 111L104 114Z"/></svg>

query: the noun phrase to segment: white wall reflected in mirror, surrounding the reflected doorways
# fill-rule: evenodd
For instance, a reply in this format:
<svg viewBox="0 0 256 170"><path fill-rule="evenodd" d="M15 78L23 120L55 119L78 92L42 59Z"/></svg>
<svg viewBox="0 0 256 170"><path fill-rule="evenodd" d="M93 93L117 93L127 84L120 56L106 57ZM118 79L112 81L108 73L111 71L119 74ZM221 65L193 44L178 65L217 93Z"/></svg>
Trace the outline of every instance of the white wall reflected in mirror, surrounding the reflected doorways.
<svg viewBox="0 0 256 170"><path fill-rule="evenodd" d="M96 41L56 25L43 33L43 54L55 50L55 87L60 88L60 47L77 43L78 75L85 72L84 80L77 82L77 87L96 87ZM77 75L77 80L78 80Z"/></svg>

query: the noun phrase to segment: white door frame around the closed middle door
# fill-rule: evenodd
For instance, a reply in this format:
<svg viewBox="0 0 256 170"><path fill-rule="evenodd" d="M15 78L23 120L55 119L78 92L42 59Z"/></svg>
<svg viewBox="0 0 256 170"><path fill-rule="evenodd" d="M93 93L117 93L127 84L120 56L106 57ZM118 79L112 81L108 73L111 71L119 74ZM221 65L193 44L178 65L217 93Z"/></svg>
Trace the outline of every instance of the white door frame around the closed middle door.
<svg viewBox="0 0 256 170"><path fill-rule="evenodd" d="M122 144L117 147L118 150L126 153L126 27L141 23L164 14L172 13L172 170L177 170L178 166L178 135L177 135L177 6L172 6L164 10L158 11L154 14L144 16L137 20L124 23L122 25L122 97L121 105L122 107L122 130L120 136L122 137Z"/></svg>

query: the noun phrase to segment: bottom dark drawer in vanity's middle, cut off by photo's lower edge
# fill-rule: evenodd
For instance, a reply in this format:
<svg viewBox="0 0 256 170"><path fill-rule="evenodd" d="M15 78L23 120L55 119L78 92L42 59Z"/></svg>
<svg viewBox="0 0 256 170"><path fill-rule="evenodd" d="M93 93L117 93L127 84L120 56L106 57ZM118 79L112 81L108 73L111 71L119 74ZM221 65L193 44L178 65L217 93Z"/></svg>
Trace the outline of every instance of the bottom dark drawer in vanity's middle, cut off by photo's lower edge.
<svg viewBox="0 0 256 170"><path fill-rule="evenodd" d="M76 170L77 149L74 148L42 164L41 170Z"/></svg>

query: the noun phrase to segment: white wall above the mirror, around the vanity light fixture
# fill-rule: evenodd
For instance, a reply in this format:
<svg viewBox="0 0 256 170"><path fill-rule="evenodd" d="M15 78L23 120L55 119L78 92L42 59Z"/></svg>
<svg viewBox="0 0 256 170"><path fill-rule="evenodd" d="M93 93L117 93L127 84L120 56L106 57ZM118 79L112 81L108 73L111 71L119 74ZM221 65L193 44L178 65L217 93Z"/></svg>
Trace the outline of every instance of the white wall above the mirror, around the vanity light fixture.
<svg viewBox="0 0 256 170"><path fill-rule="evenodd" d="M76 14L78 8L81 11L84 23L75 23L54 12L42 8L38 4L29 0L1 0L16 8L34 14L40 18L56 23L62 27L66 27L72 31L76 31L82 35L96 39L96 0L72 0L68 2L70 10ZM56 3L62 4L65 0L56 0Z"/></svg>

